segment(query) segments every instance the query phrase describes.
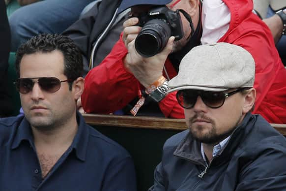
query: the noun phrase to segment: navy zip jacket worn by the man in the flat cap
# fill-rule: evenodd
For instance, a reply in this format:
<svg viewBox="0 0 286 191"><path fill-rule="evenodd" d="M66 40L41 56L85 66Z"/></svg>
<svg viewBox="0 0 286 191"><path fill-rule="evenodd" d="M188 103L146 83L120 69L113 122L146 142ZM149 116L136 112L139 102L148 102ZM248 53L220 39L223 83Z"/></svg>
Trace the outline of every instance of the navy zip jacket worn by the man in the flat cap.
<svg viewBox="0 0 286 191"><path fill-rule="evenodd" d="M188 130L168 139L150 191L286 191L286 138L261 116L247 114L207 168L200 144Z"/></svg>

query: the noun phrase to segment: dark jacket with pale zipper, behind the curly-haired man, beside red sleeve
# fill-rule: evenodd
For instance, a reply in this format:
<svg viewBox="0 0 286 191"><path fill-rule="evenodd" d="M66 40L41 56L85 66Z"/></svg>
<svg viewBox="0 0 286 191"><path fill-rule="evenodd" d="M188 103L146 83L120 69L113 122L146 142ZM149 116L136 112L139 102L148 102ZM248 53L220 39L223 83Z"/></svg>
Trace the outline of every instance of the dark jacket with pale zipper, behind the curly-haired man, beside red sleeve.
<svg viewBox="0 0 286 191"><path fill-rule="evenodd" d="M126 17L118 15L116 11L120 2L121 0L97 0L86 14L62 33L80 48L85 73L89 70L90 58L95 57L93 66L100 64L123 31L123 21ZM122 14L124 15L124 12ZM95 44L96 50L92 53Z"/></svg>

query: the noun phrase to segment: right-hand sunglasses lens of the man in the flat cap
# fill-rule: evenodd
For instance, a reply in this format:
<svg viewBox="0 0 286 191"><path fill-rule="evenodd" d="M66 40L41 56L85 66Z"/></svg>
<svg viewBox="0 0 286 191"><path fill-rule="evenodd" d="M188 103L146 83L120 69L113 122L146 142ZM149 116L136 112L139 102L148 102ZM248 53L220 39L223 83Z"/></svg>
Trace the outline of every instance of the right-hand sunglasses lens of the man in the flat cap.
<svg viewBox="0 0 286 191"><path fill-rule="evenodd" d="M204 92L201 94L202 101L208 107L218 108L225 102L225 94L223 92Z"/></svg>

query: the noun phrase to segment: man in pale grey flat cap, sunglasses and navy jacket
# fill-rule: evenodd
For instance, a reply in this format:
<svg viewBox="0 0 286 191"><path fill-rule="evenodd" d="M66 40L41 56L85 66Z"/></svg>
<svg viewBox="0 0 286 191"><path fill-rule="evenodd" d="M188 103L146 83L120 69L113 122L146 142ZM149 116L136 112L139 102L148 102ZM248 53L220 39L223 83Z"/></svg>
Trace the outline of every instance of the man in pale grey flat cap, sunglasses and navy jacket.
<svg viewBox="0 0 286 191"><path fill-rule="evenodd" d="M188 130L164 144L149 191L285 190L286 139L250 113L254 78L254 60L239 46L201 45L186 54L169 92L177 91Z"/></svg>

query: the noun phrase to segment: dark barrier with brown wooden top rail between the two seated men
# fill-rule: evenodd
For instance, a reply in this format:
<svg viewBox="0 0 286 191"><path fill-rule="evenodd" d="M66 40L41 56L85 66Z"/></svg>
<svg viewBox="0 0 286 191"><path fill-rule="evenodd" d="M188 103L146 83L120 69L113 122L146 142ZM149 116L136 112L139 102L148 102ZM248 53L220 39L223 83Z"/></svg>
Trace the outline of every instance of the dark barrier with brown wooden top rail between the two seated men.
<svg viewBox="0 0 286 191"><path fill-rule="evenodd" d="M165 141L187 128L183 119L93 114L84 114L84 118L130 153L135 164L138 191L147 191L153 185L153 172L161 161ZM272 126L286 135L286 124Z"/></svg>

